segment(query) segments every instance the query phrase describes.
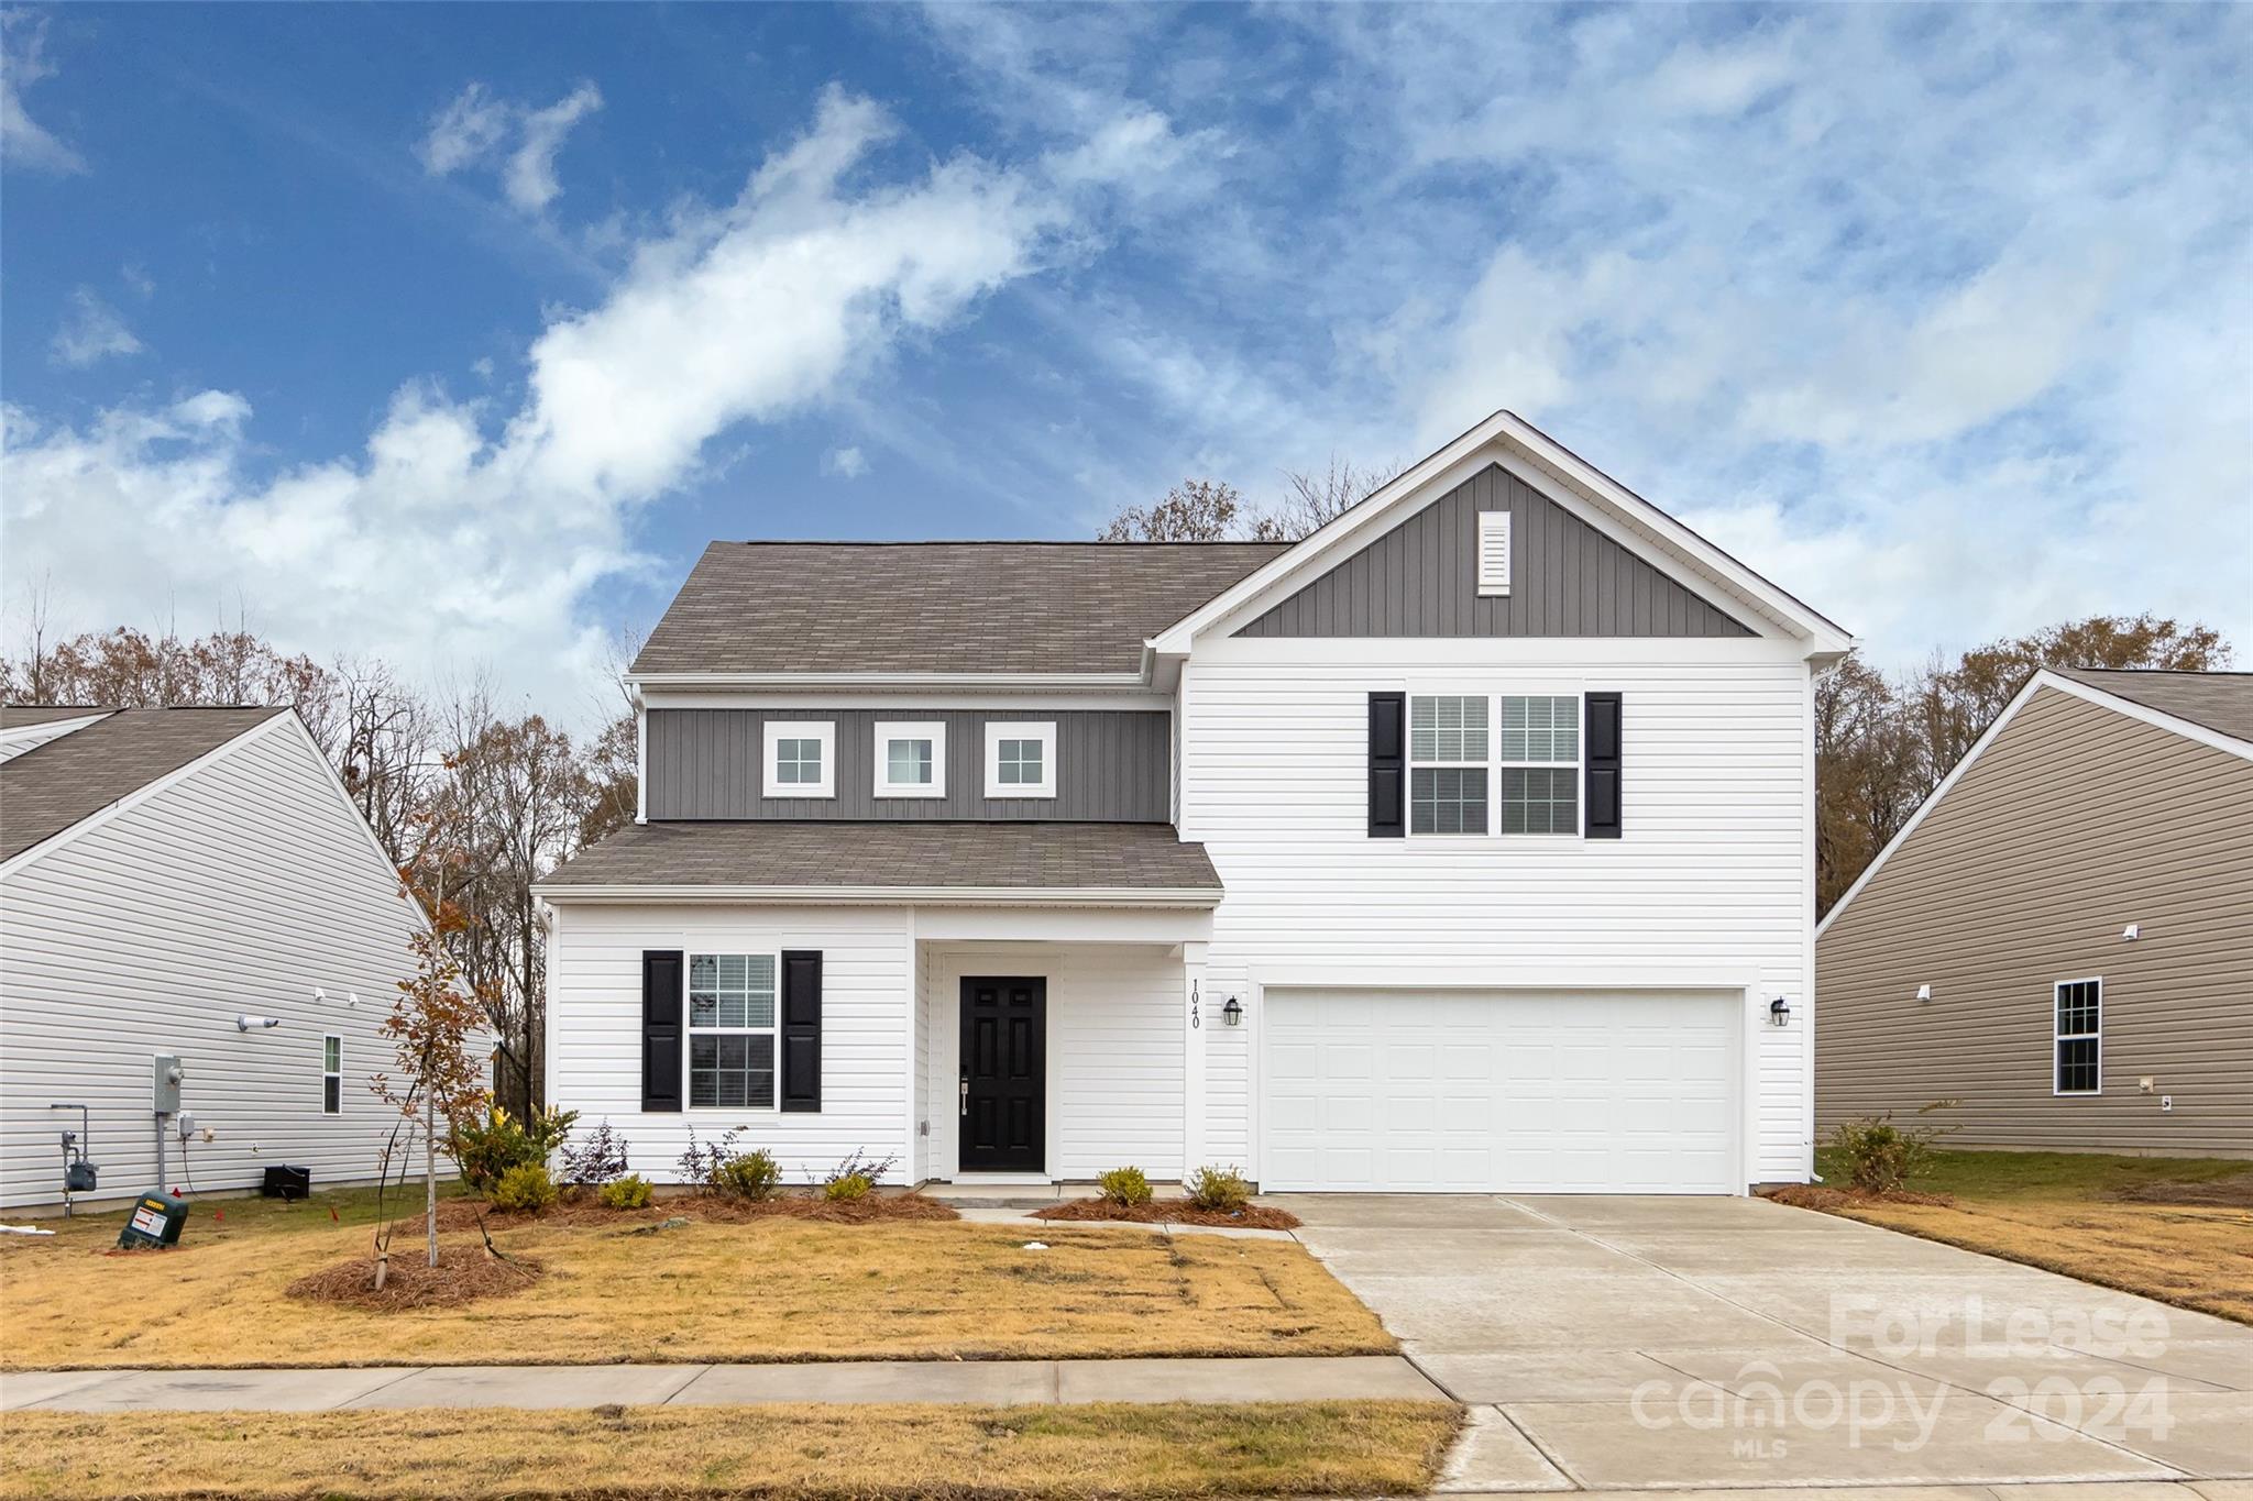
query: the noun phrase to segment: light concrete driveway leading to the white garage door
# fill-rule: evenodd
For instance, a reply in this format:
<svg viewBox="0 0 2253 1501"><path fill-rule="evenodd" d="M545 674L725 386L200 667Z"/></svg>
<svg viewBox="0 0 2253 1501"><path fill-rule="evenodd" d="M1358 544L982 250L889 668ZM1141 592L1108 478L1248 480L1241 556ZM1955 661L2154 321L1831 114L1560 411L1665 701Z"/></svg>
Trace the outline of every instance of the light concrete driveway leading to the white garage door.
<svg viewBox="0 0 2253 1501"><path fill-rule="evenodd" d="M1471 1406L1442 1490L2253 1476L2253 1328L1764 1199L1280 1197Z"/></svg>

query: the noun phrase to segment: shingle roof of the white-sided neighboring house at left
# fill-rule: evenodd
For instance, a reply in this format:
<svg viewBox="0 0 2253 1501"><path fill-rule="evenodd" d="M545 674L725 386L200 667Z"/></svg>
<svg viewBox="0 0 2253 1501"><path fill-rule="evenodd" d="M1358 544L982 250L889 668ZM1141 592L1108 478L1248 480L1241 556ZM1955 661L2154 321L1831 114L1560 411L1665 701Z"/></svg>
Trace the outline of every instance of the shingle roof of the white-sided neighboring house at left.
<svg viewBox="0 0 2253 1501"><path fill-rule="evenodd" d="M9 725L45 722L16 720L16 713L36 709L11 709ZM47 720L83 713L99 709ZM11 756L0 763L0 860L14 860L277 713L288 709L119 709Z"/></svg>

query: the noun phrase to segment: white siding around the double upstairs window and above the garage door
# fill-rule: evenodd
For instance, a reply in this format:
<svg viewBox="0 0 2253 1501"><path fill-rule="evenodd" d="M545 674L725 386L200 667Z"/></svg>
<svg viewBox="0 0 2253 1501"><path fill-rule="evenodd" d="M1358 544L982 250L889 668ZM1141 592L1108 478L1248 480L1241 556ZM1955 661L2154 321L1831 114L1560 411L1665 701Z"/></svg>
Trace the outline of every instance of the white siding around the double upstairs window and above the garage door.
<svg viewBox="0 0 2253 1501"><path fill-rule="evenodd" d="M1622 693L1622 839L1370 839L1368 695L1419 684ZM1805 1179L1807 664L1748 641L1223 639L1183 668L1181 835L1228 900L1208 988L1386 983L1728 986L1793 1024L1746 1026L1748 1181ZM1205 1157L1253 1166L1257 1010L1208 1028Z"/></svg>

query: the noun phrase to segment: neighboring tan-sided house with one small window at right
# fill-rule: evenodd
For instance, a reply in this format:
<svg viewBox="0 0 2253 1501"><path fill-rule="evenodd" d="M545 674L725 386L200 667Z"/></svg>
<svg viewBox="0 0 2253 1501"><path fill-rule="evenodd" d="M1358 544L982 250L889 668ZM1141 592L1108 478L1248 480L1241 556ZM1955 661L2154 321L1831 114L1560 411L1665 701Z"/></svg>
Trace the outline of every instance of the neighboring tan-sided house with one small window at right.
<svg viewBox="0 0 2253 1501"><path fill-rule="evenodd" d="M1825 1132L2253 1157L2253 673L2037 673L1816 934Z"/></svg>

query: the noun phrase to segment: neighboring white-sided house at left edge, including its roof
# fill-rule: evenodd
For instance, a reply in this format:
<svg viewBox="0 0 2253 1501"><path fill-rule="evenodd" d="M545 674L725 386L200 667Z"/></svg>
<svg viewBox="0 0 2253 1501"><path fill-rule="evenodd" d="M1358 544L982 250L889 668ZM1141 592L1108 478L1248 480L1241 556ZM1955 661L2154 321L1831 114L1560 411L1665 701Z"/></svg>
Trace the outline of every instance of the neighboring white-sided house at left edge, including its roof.
<svg viewBox="0 0 2253 1501"><path fill-rule="evenodd" d="M0 1204L372 1181L419 927L295 711L0 709Z"/></svg>

